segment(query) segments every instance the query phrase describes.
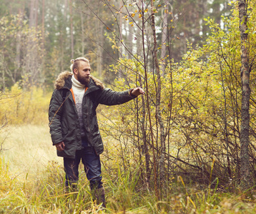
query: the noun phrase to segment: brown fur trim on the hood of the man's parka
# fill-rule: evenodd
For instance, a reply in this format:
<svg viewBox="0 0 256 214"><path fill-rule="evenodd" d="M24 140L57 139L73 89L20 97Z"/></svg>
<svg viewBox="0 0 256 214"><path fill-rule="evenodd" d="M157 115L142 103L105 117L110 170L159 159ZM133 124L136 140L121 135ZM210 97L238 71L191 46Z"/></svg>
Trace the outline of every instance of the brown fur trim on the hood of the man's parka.
<svg viewBox="0 0 256 214"><path fill-rule="evenodd" d="M56 78L56 81L54 83L54 87L59 90L61 88L64 87L65 85L65 81L71 77L73 75L72 72L69 71L64 71L59 73L59 76ZM98 86L99 88L101 88L102 90L105 88L102 81L100 81L99 79L95 78L94 76L90 75L90 78L92 79L92 81L94 81L95 85Z"/></svg>

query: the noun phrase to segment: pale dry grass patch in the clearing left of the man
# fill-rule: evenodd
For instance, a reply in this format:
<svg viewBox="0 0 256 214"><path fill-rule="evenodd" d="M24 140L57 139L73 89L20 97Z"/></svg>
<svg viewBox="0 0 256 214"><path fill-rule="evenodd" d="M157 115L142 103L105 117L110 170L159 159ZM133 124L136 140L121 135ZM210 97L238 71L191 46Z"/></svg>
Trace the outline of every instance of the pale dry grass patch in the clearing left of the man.
<svg viewBox="0 0 256 214"><path fill-rule="evenodd" d="M6 139L1 153L9 164L9 171L19 175L20 179L27 174L37 175L49 161L62 163L62 158L56 156L56 149L52 146L47 124L8 126L3 135Z"/></svg>

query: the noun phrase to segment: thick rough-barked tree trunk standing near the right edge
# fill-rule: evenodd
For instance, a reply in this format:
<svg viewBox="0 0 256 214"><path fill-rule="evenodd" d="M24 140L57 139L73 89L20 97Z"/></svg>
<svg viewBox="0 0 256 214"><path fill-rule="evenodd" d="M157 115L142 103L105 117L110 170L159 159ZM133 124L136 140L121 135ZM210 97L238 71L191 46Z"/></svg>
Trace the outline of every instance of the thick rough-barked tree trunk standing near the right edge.
<svg viewBox="0 0 256 214"><path fill-rule="evenodd" d="M249 162L249 128L250 128L250 69L248 59L248 35L247 35L247 1L239 1L240 17L240 39L241 39L241 83L242 83L242 106L241 106L241 135L240 135L240 172L241 187L243 190L250 188L252 179L250 177Z"/></svg>

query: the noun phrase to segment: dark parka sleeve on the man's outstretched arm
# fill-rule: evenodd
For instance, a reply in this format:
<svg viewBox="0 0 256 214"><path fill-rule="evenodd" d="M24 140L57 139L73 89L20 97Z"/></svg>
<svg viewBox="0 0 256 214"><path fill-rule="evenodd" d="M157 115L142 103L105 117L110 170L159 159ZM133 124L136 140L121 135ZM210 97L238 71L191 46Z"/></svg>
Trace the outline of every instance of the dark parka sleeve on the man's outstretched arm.
<svg viewBox="0 0 256 214"><path fill-rule="evenodd" d="M102 91L97 91L97 101L107 106L119 105L131 101L137 96L131 94L132 89L127 91L112 91L110 88L105 88Z"/></svg>

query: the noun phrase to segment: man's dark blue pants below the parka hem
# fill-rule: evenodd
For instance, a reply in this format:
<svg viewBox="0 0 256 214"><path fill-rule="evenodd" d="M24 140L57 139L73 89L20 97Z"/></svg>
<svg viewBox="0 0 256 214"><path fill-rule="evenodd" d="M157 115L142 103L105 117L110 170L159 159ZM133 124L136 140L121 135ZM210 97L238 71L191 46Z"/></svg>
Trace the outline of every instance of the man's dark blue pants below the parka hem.
<svg viewBox="0 0 256 214"><path fill-rule="evenodd" d="M92 147L85 147L76 152L76 158L64 158L64 170L66 172L66 186L78 182L79 179L79 163L82 160L84 171L87 173L87 179L90 183L90 188L102 188L102 169L99 156Z"/></svg>

